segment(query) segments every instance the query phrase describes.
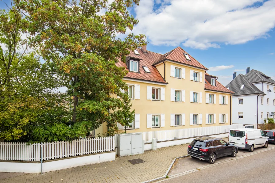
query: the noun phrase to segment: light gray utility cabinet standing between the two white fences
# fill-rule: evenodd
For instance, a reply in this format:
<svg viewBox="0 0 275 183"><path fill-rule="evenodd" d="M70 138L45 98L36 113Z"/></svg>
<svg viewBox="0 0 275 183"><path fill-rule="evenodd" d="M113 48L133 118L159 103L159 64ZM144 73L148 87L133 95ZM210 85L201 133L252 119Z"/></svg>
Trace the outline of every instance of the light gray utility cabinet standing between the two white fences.
<svg viewBox="0 0 275 183"><path fill-rule="evenodd" d="M144 153L142 133L118 134L118 156L129 156Z"/></svg>

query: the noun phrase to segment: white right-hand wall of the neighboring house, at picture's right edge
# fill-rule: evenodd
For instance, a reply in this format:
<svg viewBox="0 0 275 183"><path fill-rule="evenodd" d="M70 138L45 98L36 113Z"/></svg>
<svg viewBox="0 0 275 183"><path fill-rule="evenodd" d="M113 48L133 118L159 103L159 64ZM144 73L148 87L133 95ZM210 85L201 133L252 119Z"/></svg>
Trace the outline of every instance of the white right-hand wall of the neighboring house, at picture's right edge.
<svg viewBox="0 0 275 183"><path fill-rule="evenodd" d="M274 87L275 85L269 84L269 83L257 83L254 84L259 90L262 91L266 94L264 96L259 96L259 123L263 123L263 119L267 117L267 112L269 113L269 117L271 112L275 112L275 105L274 101L275 100L275 92L274 92ZM271 92L267 92L267 86L269 85L269 90ZM263 97L263 104L261 104L261 97ZM269 105L267 104L267 99L269 99ZM261 112L263 113L263 117L261 119Z"/></svg>

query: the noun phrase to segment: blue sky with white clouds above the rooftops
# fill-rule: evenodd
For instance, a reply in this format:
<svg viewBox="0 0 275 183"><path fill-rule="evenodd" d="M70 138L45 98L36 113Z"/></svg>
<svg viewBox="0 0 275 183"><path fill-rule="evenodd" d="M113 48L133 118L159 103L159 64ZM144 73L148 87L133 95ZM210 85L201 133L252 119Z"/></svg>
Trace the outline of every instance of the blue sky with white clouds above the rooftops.
<svg viewBox="0 0 275 183"><path fill-rule="evenodd" d="M140 0L129 11L149 51L180 46L223 85L246 67L275 79L275 0Z"/></svg>

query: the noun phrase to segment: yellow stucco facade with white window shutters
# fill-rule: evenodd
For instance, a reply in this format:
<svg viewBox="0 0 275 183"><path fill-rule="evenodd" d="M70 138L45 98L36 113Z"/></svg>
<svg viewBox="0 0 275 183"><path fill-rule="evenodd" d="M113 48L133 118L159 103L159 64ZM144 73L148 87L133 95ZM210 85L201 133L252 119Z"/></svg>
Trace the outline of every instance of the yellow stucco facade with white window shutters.
<svg viewBox="0 0 275 183"><path fill-rule="evenodd" d="M171 76L171 70L173 70L174 67L180 69L179 78ZM172 130L179 128L198 128L230 124L231 93L205 90L204 77L206 70L170 61L160 63L156 66L156 68L162 77L165 78L165 81L168 84L129 78L123 79L127 85L133 86L134 98L131 100L133 104L132 109L135 109L136 117L138 118L139 116L139 119L136 119L133 122L132 129L126 130L127 133ZM183 74L184 71L185 76ZM193 77L193 72L198 74L198 81L190 80L190 77ZM199 79L199 77L201 78ZM135 96L138 94L136 93L138 87L140 88L139 99L137 99ZM152 95L148 90L151 90L152 92L153 88L159 89L159 100L148 99L148 96L150 98L150 95ZM180 96L178 98L180 101L174 101L174 90L179 91ZM194 102L194 98L191 97L192 95L194 97L194 92L198 95L198 102ZM174 95L172 93L174 93ZM206 97L208 96L207 94L212 95L212 104L206 103ZM224 104L220 104L220 95L224 97ZM153 115L157 115L157 127L150 127L149 125L149 123L152 124ZM172 119L173 115L180 115L179 117L177 116L176 119L176 121L179 119L179 125L173 125L173 123L175 124L175 118L174 121ZM196 124L194 124L194 115L197 115ZM212 118L211 124L208 124L209 115L211 115L210 118ZM193 118L191 116L193 116ZM223 120L221 120L221 117ZM151 118L151 120L148 118ZM222 121L223 123L221 123ZM178 124L178 122L176 122L176 124ZM96 129L96 134L105 133L107 131L106 124L103 124L102 126L103 127ZM120 125L118 126L120 129L122 128ZM123 132L123 130L120 130L120 132Z"/></svg>

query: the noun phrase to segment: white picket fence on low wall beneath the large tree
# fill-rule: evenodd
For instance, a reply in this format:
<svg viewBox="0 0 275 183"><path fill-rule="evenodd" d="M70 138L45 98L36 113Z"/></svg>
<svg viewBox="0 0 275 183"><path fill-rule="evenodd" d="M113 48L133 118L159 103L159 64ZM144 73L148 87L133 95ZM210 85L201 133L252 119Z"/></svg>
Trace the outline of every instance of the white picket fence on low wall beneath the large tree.
<svg viewBox="0 0 275 183"><path fill-rule="evenodd" d="M116 136L43 143L43 160L114 151ZM41 144L0 142L0 160L40 161Z"/></svg>

